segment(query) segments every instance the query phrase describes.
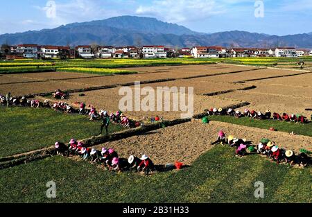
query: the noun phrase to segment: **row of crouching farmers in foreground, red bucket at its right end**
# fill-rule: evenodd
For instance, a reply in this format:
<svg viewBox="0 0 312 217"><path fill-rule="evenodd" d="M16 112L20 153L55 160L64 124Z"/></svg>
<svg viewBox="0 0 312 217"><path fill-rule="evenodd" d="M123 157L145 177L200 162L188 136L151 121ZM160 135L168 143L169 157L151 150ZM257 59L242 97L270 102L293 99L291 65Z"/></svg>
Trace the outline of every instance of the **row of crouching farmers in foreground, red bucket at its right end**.
<svg viewBox="0 0 312 217"><path fill-rule="evenodd" d="M113 148L87 148L81 141L71 139L66 145L62 142L55 142L55 154L58 155L78 155L85 161L92 164L101 164L110 171L137 171L148 174L155 171L155 166L148 155L142 155L140 158L131 155L128 159L119 157Z"/></svg>

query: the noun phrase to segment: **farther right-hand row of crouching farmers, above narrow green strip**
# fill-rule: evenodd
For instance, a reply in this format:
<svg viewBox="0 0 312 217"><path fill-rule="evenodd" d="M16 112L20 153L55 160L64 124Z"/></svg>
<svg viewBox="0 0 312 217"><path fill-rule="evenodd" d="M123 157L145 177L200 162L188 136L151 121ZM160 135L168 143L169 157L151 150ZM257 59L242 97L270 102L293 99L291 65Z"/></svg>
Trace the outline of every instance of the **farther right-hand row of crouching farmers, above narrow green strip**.
<svg viewBox="0 0 312 217"><path fill-rule="evenodd" d="M307 123L306 117L302 114L286 114L283 113L280 115L279 113L274 112L273 114L270 112L270 110L266 110L266 112L256 112L255 110L248 110L245 109L243 112L240 110L233 110L232 108L228 108L227 110L224 110L223 108L217 109L211 108L207 111L208 115L227 115L227 116L235 116L237 118L241 117L250 117L252 119L261 119L261 120L268 120L268 119L274 119L278 121L291 121L295 123ZM312 119L312 114L311 114Z"/></svg>

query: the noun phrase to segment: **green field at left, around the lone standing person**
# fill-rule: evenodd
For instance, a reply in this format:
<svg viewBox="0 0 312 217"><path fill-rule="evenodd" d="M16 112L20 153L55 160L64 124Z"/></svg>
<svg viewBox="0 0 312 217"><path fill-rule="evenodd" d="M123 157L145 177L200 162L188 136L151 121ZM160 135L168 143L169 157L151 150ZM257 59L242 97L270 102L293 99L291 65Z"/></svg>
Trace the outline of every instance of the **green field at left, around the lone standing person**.
<svg viewBox="0 0 312 217"><path fill-rule="evenodd" d="M55 141L85 139L98 135L101 123L86 116L62 114L51 109L0 106L0 157L25 153ZM123 128L110 124L110 132Z"/></svg>

